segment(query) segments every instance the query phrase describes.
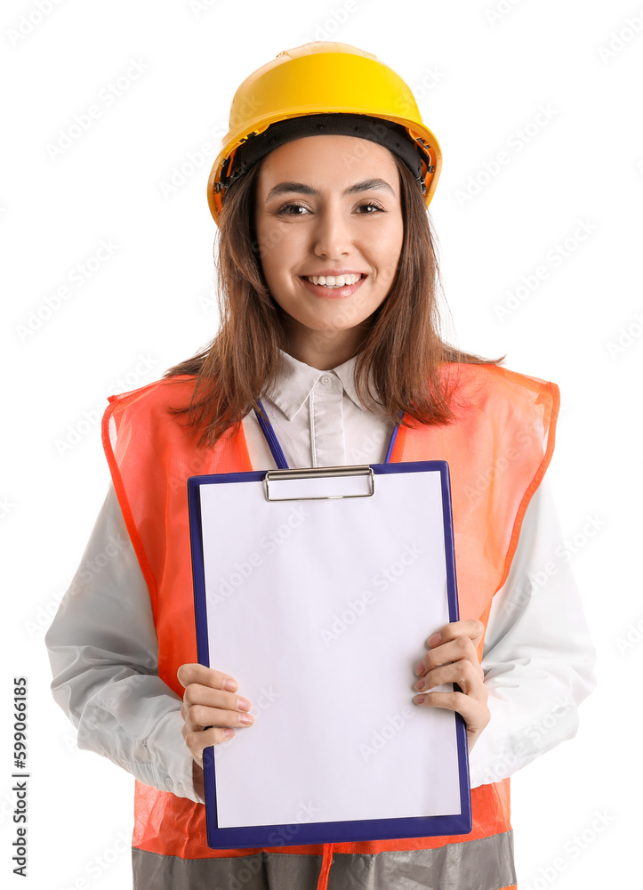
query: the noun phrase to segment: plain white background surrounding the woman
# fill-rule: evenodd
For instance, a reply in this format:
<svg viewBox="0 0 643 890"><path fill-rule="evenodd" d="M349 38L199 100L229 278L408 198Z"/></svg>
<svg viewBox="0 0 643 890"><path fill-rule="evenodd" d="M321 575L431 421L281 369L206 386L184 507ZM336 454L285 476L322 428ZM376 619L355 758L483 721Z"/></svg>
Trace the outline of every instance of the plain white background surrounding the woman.
<svg viewBox="0 0 643 890"><path fill-rule="evenodd" d="M0 674L3 882L7 875L11 886L52 890L129 886L133 780L74 747L72 727L49 692L44 629L107 490L98 423L107 395L156 379L216 330L215 225L205 185L237 85L281 50L336 39L398 71L438 136L444 167L430 212L451 336L489 357L506 353L507 367L551 379L562 392L550 473L564 535L577 536L573 564L599 651L599 687L581 708L575 740L512 783L520 886L634 886L638 857L628 851L639 845L643 651L636 386L643 350L643 6L40 6L47 14L35 0L4 3L0 13L0 537L9 617ZM15 36L20 27L25 33ZM610 54L601 53L610 44ZM133 61L143 71L128 80ZM129 88L108 105L101 91L119 78ZM48 146L92 105L100 117L52 158ZM539 127L533 122L541 106L551 119ZM531 134L527 141L521 130ZM209 153L199 158L205 143ZM521 150L511 148L517 143ZM509 163L486 174L502 150ZM162 183L181 166L184 182L164 196ZM462 200L468 188L478 194ZM592 230L583 241L575 239L580 223ZM77 279L76 267L101 239L116 246L113 255L76 287L70 276ZM566 239L567 258L558 267L547 263ZM547 279L501 321L494 307L543 264ZM65 285L69 298L43 320L45 301L55 307ZM25 333L28 320L36 329ZM583 533L590 517L599 526L591 537ZM18 675L28 676L30 704L27 882L11 874Z"/></svg>

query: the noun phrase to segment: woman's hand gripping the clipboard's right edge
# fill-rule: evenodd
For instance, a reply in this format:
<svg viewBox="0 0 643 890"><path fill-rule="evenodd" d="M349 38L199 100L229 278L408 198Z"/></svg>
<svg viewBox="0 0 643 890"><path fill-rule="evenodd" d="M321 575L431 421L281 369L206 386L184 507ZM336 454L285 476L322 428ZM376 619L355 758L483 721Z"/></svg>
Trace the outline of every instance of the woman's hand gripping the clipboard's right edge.
<svg viewBox="0 0 643 890"><path fill-rule="evenodd" d="M427 640L430 651L415 668L422 677L415 689L429 690L441 683L457 683L462 692L425 692L415 696L419 705L449 708L462 714L467 724L469 750L491 719L486 700L489 692L476 648L485 632L481 621L452 621Z"/></svg>

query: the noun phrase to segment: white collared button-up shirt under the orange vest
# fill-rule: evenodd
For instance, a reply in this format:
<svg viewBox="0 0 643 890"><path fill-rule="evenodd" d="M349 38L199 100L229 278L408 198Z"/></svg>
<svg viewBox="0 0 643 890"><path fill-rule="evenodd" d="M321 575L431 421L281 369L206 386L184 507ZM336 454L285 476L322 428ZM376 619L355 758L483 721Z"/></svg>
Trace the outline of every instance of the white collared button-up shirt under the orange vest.
<svg viewBox="0 0 643 890"><path fill-rule="evenodd" d="M288 465L383 463L393 427L362 408L356 359L321 371L282 354L282 375L261 401ZM243 425L253 469L274 468L254 411ZM545 476L489 615L482 667L491 720L470 752L471 788L515 773L574 736L578 706L595 687L595 650L561 542ZM543 572L548 562L557 566L550 574ZM77 726L79 748L203 803L181 734L181 699L157 676L149 592L111 484L45 642L53 696Z"/></svg>

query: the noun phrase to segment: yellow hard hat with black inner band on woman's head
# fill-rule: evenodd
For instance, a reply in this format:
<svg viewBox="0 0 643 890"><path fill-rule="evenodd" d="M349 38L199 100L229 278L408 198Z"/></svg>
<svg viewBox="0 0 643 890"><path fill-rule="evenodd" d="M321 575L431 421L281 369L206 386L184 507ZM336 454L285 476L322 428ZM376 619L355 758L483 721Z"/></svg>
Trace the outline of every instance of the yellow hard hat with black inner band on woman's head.
<svg viewBox="0 0 643 890"><path fill-rule="evenodd" d="M207 183L217 224L227 186L289 139L323 131L380 142L413 170L427 206L442 167L438 140L422 123L409 87L372 53L350 44L318 40L279 53L238 87L229 127Z"/></svg>

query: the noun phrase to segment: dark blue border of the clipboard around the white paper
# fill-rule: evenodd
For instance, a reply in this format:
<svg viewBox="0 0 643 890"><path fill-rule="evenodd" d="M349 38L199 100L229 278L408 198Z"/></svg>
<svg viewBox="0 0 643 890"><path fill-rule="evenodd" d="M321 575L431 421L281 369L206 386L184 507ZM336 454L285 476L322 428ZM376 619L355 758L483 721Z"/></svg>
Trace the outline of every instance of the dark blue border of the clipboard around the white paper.
<svg viewBox="0 0 643 890"><path fill-rule="evenodd" d="M366 466L366 465L365 465ZM417 473L438 471L442 490L442 514L445 532L446 590L449 620L459 619L457 579L455 574L454 523L451 506L449 467L444 460L369 464L376 475L383 473ZM306 469L306 468L301 468ZM207 604L205 596L204 546L201 529L202 485L221 482L262 481L267 470L243 473L212 473L190 476L188 479L189 534L192 551L195 618L197 626L197 658L210 667L207 635ZM459 689L454 684L456 690ZM455 733L458 748L460 778L460 813L450 815L410 816L394 819L357 821L298 822L296 845L346 843L371 840L391 840L398 837L440 837L470 834L472 830L469 774L469 747L464 718L455 714ZM216 806L216 774L213 748L203 752L205 786L205 823L207 843L214 850L292 846L292 825L256 825L219 828Z"/></svg>

